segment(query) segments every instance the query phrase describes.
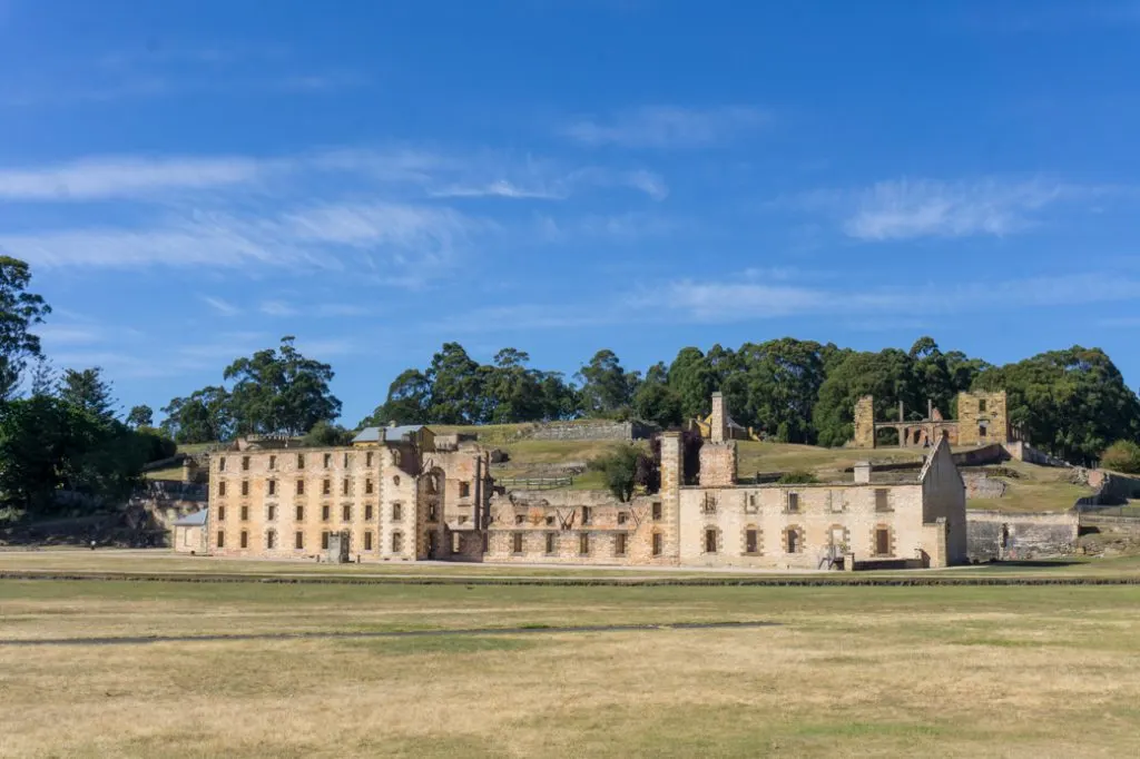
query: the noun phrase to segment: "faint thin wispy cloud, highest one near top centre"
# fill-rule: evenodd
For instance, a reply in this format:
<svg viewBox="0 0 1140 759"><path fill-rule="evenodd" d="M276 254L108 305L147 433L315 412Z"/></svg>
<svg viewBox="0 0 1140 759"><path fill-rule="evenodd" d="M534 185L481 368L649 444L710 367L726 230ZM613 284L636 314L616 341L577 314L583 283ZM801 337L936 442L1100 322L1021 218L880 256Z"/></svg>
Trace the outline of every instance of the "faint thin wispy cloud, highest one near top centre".
<svg viewBox="0 0 1140 759"><path fill-rule="evenodd" d="M763 128L769 121L771 114L752 106L644 106L620 112L610 119L581 117L568 124L562 132L588 146L694 148L738 138Z"/></svg>

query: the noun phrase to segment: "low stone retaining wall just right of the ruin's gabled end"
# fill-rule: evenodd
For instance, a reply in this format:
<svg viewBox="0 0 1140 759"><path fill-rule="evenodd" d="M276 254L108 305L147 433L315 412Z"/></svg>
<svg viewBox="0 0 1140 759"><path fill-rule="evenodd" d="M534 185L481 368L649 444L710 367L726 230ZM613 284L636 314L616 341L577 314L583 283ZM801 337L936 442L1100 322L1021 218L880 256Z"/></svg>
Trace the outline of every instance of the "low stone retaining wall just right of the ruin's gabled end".
<svg viewBox="0 0 1140 759"><path fill-rule="evenodd" d="M974 562L1012 561L1069 554L1076 544L1078 523L1075 512L1009 514L970 509L967 520L969 558Z"/></svg>

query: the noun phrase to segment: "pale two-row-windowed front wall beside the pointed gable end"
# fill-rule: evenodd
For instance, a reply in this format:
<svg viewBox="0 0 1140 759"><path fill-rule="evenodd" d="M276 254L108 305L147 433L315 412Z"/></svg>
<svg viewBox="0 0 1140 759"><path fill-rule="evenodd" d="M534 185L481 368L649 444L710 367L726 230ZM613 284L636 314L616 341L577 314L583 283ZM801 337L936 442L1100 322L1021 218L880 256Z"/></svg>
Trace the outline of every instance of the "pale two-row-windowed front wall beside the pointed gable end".
<svg viewBox="0 0 1140 759"><path fill-rule="evenodd" d="M887 493L886 504L876 491ZM790 496L795 495L795 500ZM877 529L889 536L877 553ZM715 536L716 550L709 548ZM748 533L757 550L749 553ZM790 552L789 532L797 550ZM928 548L919 484L762 485L684 488L681 491L681 564L819 569L834 545L856 560L915 558ZM927 550L927 553L930 553Z"/></svg>

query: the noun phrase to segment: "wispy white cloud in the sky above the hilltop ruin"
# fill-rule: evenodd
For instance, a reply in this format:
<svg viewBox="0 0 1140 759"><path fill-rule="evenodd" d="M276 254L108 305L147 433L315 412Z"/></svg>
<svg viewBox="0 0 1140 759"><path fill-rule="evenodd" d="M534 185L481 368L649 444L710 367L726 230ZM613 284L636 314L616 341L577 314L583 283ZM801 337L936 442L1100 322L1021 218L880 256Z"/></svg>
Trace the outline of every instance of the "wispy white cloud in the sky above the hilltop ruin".
<svg viewBox="0 0 1140 759"><path fill-rule="evenodd" d="M862 190L822 190L795 205L838 217L842 231L863 240L1007 236L1040 223L1045 207L1114 191L1045 177L977 181L891 180Z"/></svg>

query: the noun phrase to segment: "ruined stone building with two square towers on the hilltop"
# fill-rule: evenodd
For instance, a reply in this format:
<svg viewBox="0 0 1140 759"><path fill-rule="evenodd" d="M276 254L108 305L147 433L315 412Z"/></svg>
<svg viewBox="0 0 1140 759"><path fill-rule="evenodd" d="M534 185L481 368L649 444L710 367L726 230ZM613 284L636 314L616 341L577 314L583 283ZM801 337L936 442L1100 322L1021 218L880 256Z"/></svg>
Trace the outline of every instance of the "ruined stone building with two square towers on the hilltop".
<svg viewBox="0 0 1140 759"><path fill-rule="evenodd" d="M961 448L1025 440L1021 430L1009 421L1004 390L959 393L956 419L943 418L930 401L927 401L925 417L907 419L906 409L899 401L896 421L876 422L874 397L863 395L855 403L852 444L855 448L876 448L882 430L894 430L901 448L930 448L943 438L951 446Z"/></svg>

